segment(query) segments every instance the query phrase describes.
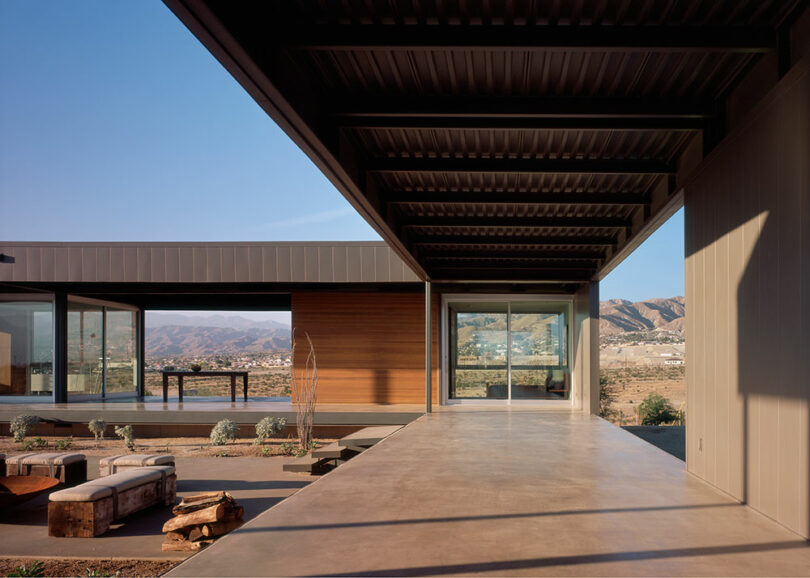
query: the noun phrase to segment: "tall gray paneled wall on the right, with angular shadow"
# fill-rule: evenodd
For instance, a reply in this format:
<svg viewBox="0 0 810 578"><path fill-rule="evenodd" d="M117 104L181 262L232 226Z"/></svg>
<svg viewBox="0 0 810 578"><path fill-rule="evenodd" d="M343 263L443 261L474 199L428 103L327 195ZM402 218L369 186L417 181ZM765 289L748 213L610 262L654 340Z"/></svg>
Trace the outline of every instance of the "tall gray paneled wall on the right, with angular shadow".
<svg viewBox="0 0 810 578"><path fill-rule="evenodd" d="M687 469L810 537L810 57L686 187Z"/></svg>

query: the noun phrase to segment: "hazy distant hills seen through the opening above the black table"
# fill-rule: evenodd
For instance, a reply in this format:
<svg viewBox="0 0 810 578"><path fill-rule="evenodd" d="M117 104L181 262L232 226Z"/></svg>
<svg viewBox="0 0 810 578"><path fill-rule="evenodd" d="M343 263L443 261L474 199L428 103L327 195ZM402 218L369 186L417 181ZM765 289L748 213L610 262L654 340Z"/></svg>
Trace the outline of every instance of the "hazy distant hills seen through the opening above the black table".
<svg viewBox="0 0 810 578"><path fill-rule="evenodd" d="M253 321L237 315L205 317L149 313L146 356L211 355L290 348L290 327L277 321Z"/></svg>

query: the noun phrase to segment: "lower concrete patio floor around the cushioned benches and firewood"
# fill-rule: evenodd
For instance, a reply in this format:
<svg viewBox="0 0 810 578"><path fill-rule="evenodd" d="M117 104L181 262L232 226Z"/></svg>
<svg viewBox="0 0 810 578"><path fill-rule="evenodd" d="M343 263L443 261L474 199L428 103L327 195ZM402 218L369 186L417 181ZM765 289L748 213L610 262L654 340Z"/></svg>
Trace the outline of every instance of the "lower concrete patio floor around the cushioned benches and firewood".
<svg viewBox="0 0 810 578"><path fill-rule="evenodd" d="M98 456L87 457L88 476L98 477ZM292 458L178 458L179 496L228 490L245 508L245 520L255 518L312 479L282 471ZM129 516L98 538L48 536L48 497L39 496L0 512L0 556L72 558L178 559L185 552L162 552L161 528L171 517L154 507Z"/></svg>

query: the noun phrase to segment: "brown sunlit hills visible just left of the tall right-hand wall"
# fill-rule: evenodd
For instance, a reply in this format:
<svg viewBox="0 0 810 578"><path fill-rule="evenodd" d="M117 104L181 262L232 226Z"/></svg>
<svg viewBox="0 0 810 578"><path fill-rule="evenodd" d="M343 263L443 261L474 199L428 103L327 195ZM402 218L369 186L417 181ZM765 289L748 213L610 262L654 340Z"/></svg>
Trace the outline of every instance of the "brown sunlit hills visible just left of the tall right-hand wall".
<svg viewBox="0 0 810 578"><path fill-rule="evenodd" d="M655 330L683 333L685 314L683 297L648 299L636 303L611 299L599 304L599 332L602 335Z"/></svg>

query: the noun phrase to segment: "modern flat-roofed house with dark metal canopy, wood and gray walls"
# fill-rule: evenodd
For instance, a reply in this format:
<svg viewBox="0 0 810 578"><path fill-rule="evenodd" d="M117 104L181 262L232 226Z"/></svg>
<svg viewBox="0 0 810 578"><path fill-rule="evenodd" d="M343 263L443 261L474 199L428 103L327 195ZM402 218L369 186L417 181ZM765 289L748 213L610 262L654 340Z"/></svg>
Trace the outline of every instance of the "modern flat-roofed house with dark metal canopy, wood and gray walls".
<svg viewBox="0 0 810 578"><path fill-rule="evenodd" d="M810 537L806 2L166 3L386 245L0 243L3 395L289 308L321 402L595 413L599 281L685 206L687 469Z"/></svg>

